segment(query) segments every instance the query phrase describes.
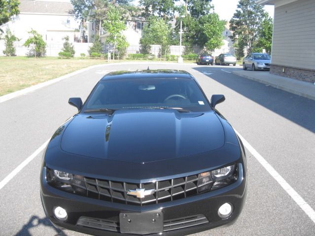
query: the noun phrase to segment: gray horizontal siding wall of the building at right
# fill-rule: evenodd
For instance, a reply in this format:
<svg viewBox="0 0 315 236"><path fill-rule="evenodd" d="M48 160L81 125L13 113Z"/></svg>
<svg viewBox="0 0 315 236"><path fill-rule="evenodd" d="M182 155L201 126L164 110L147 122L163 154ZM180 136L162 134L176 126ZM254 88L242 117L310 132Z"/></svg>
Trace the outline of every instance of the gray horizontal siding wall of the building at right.
<svg viewBox="0 0 315 236"><path fill-rule="evenodd" d="M315 69L315 0L275 8L272 64Z"/></svg>

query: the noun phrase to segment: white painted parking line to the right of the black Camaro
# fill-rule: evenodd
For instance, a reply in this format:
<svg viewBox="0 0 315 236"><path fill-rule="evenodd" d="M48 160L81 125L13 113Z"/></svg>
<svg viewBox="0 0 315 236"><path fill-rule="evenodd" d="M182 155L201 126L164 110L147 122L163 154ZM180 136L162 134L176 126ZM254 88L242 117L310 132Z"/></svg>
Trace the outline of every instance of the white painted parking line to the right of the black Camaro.
<svg viewBox="0 0 315 236"><path fill-rule="evenodd" d="M266 171L280 184L284 191L301 207L301 209L315 223L314 209L304 201L304 199L288 184L285 179L263 158L243 137L235 130L235 133L240 137L244 146L252 153L256 160L266 169Z"/></svg>

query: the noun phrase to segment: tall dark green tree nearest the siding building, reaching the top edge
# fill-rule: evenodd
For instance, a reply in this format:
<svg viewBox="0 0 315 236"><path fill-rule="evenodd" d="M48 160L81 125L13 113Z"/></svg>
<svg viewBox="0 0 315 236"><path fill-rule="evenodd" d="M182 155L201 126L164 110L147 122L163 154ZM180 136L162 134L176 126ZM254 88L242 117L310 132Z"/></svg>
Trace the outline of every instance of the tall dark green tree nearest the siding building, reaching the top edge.
<svg viewBox="0 0 315 236"><path fill-rule="evenodd" d="M230 20L230 30L233 31L230 38L236 42L236 38L241 36L245 46L251 50L263 18L264 10L255 0L240 0Z"/></svg>

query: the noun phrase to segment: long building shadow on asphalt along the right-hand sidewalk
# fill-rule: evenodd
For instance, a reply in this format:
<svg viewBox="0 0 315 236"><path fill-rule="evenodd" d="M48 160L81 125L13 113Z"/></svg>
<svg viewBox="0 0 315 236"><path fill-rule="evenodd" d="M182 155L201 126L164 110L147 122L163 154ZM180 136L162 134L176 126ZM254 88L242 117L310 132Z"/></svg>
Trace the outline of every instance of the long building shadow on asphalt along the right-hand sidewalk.
<svg viewBox="0 0 315 236"><path fill-rule="evenodd" d="M209 66L193 67L204 71ZM259 72L258 72L259 73ZM292 122L315 133L315 101L281 89L266 86L231 73L213 73L207 75L221 85L233 89L261 106L291 120ZM220 91L216 91L220 93Z"/></svg>

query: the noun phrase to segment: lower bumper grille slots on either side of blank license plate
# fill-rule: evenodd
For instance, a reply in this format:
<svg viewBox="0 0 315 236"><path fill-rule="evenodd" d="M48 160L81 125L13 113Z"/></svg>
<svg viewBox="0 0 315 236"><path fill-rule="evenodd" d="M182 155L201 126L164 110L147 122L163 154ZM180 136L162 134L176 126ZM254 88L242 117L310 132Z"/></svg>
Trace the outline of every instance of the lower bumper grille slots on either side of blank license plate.
<svg viewBox="0 0 315 236"><path fill-rule="evenodd" d="M209 221L202 214L178 219L164 220L163 232L185 229L206 223L209 223ZM77 222L77 225L104 231L120 232L119 222L112 220L96 219L81 216Z"/></svg>

